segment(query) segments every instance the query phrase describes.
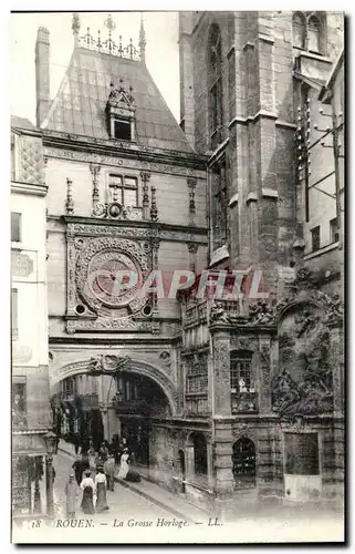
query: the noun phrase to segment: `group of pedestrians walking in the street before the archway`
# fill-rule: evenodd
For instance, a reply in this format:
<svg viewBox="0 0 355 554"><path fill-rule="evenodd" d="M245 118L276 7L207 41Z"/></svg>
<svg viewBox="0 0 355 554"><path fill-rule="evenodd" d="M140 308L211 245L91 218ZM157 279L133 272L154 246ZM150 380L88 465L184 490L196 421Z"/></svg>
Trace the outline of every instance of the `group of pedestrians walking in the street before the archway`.
<svg viewBox="0 0 355 554"><path fill-rule="evenodd" d="M116 465L118 479L127 481L140 481L138 472L132 469L133 452L123 448L115 455L109 449L107 441L103 442L98 453L90 444L88 451L82 449L81 455L76 456L69 482L66 484L66 516L75 517L75 504L77 486L82 491L81 507L84 514L101 513L108 510L106 492L114 491ZM76 483L75 483L76 481Z"/></svg>

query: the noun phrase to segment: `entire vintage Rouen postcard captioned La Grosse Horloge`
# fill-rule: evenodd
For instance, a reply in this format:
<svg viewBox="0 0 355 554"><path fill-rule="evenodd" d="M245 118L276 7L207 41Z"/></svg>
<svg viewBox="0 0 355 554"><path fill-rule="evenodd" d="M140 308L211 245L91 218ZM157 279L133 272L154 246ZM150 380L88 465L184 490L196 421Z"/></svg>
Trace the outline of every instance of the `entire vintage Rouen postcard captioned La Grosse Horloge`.
<svg viewBox="0 0 355 554"><path fill-rule="evenodd" d="M344 13L10 55L12 542L344 542Z"/></svg>

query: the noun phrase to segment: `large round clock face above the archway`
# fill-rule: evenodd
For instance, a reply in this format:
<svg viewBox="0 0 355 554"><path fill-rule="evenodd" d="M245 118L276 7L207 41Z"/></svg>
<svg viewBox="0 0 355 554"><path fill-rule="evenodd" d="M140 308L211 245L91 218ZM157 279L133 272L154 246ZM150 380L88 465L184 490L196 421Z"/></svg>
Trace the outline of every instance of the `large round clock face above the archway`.
<svg viewBox="0 0 355 554"><path fill-rule="evenodd" d="M117 250L96 255L90 264L88 274L92 293L109 307L128 305L142 285L138 264ZM136 284L132 287L133 279L136 279Z"/></svg>

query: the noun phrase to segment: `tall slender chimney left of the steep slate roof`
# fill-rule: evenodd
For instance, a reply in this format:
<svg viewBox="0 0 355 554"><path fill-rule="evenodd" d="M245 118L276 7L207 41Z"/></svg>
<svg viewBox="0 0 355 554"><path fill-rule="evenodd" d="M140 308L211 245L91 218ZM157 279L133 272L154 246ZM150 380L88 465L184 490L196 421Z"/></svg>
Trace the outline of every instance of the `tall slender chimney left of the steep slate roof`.
<svg viewBox="0 0 355 554"><path fill-rule="evenodd" d="M40 127L50 107L50 32L40 27L35 42L35 121Z"/></svg>

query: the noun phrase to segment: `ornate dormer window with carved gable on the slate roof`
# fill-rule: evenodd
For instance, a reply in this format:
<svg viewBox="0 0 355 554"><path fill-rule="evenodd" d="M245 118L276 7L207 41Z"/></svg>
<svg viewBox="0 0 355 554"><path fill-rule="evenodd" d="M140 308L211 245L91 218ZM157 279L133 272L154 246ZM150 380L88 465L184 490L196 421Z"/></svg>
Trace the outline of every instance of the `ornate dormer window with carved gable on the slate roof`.
<svg viewBox="0 0 355 554"><path fill-rule="evenodd" d="M107 126L111 138L116 141L135 141L135 100L123 86L123 79L119 80L119 88L115 89L111 83L111 92L107 100Z"/></svg>

